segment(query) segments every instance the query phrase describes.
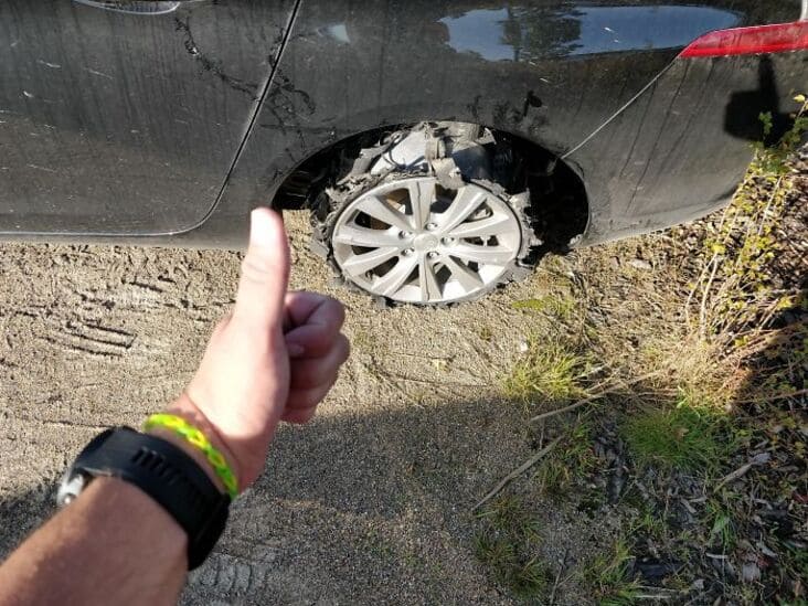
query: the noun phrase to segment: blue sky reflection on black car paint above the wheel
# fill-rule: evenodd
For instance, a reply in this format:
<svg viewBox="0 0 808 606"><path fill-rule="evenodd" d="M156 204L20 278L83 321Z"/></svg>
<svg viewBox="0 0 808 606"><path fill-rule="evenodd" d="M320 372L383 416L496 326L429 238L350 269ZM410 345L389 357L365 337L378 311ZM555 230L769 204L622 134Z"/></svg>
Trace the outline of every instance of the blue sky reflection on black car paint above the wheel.
<svg viewBox="0 0 808 606"><path fill-rule="evenodd" d="M699 35L741 23L711 7L509 7L477 9L439 20L447 44L488 61L677 49Z"/></svg>

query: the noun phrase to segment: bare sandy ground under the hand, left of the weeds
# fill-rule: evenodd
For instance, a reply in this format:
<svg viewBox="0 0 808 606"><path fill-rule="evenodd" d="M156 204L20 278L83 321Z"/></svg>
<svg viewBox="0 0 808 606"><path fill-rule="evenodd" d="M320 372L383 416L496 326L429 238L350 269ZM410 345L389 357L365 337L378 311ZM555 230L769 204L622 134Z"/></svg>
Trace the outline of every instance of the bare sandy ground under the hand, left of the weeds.
<svg viewBox="0 0 808 606"><path fill-rule="evenodd" d="M279 433L183 602L510 603L474 556L470 508L533 451L498 394L532 330L511 301L535 296L541 270L454 309L379 309L330 285L305 215L287 222L293 287L345 302L353 355L318 418ZM238 261L0 246L0 556L53 511L59 476L92 435L137 426L181 391L233 301ZM547 510L550 561L608 534L576 518ZM568 589L564 602L582 599Z"/></svg>

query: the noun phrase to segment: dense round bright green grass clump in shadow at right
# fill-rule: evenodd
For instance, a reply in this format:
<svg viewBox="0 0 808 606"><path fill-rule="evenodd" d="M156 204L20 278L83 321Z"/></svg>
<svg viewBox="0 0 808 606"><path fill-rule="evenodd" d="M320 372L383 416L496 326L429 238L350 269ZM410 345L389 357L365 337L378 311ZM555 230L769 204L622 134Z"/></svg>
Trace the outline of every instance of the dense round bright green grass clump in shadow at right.
<svg viewBox="0 0 808 606"><path fill-rule="evenodd" d="M682 395L672 408L653 408L630 417L623 437L641 466L704 469L731 450L725 422L725 415L715 408Z"/></svg>

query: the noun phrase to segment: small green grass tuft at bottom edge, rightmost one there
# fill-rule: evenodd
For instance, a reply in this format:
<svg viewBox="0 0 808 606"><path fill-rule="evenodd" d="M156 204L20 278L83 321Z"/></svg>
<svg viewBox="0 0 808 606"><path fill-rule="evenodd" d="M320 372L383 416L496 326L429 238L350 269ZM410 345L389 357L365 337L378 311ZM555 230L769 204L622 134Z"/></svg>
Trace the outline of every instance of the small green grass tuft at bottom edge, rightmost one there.
<svg viewBox="0 0 808 606"><path fill-rule="evenodd" d="M637 603L639 583L630 577L631 561L625 540L617 540L609 551L593 560L584 577L598 604L628 606Z"/></svg>

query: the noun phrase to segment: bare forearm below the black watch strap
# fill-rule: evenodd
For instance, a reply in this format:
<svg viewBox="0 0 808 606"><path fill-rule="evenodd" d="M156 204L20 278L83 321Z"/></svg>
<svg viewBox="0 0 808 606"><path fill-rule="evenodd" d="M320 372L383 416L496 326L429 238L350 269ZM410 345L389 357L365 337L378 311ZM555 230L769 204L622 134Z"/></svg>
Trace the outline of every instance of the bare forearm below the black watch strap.
<svg viewBox="0 0 808 606"><path fill-rule="evenodd" d="M187 543L140 489L99 478L0 566L0 605L174 604Z"/></svg>

